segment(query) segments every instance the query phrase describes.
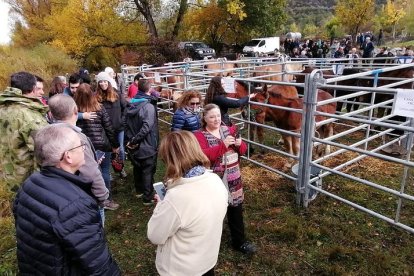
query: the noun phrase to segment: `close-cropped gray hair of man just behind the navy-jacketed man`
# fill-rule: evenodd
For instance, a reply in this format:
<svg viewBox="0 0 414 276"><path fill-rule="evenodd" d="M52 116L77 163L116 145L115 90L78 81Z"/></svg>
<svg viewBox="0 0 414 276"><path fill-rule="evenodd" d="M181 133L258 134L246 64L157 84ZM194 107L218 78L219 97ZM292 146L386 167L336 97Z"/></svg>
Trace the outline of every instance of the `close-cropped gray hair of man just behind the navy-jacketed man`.
<svg viewBox="0 0 414 276"><path fill-rule="evenodd" d="M69 95L57 94L49 99L48 105L53 118L60 121L70 119L78 111L75 100Z"/></svg>

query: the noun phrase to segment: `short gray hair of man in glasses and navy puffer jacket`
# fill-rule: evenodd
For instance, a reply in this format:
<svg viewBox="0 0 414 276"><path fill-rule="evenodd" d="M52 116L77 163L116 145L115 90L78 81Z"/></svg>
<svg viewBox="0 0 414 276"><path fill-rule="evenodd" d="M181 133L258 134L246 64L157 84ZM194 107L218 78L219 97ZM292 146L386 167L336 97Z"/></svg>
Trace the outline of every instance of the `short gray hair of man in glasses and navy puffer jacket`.
<svg viewBox="0 0 414 276"><path fill-rule="evenodd" d="M79 139L79 135L66 124L52 124L41 128L34 137L37 162L42 167L56 167L65 151L77 146Z"/></svg>

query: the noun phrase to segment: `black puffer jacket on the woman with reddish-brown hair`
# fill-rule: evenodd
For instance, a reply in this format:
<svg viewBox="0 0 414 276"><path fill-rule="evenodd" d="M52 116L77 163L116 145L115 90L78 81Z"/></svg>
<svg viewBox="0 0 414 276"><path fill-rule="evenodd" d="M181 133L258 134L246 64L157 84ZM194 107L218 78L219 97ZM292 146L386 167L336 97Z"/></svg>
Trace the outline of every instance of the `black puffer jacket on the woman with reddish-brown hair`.
<svg viewBox="0 0 414 276"><path fill-rule="evenodd" d="M105 108L96 112L94 120L78 120L76 125L91 139L97 150L109 152L112 148L118 148L118 137L112 127L111 119Z"/></svg>

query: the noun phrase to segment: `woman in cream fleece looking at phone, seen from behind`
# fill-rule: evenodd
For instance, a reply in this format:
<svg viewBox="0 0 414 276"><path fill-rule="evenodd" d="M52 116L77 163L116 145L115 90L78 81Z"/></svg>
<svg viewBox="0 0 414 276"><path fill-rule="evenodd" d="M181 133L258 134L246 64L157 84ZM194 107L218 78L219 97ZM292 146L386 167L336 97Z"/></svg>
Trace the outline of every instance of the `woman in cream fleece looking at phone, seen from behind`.
<svg viewBox="0 0 414 276"><path fill-rule="evenodd" d="M167 193L148 222L148 238L158 245L160 275L214 275L228 193L207 168L204 155L189 131L169 133L161 142Z"/></svg>

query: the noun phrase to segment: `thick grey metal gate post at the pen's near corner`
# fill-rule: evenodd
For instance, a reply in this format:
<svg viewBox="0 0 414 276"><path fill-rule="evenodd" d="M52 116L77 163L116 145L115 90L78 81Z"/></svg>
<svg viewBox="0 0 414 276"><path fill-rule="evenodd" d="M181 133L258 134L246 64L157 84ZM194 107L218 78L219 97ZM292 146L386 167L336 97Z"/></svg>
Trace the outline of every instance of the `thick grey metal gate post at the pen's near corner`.
<svg viewBox="0 0 414 276"><path fill-rule="evenodd" d="M315 133L315 111L317 103L317 77L319 70L314 70L305 77L305 89L302 109L302 128L300 138L300 154L298 179L296 182L296 203L308 207L309 180L312 161L312 137Z"/></svg>

